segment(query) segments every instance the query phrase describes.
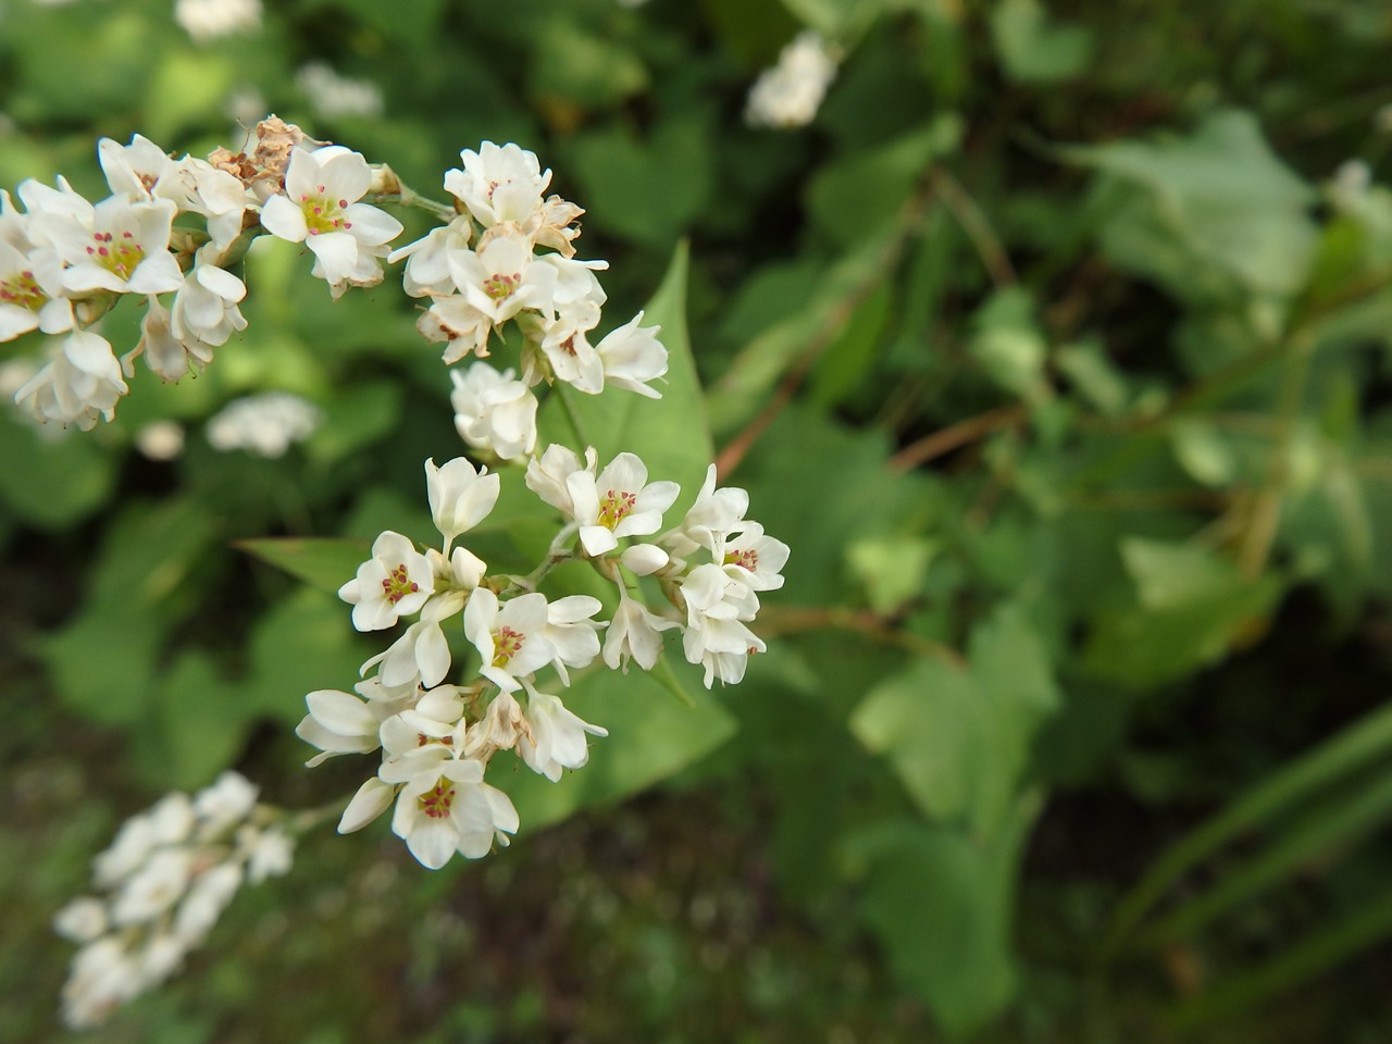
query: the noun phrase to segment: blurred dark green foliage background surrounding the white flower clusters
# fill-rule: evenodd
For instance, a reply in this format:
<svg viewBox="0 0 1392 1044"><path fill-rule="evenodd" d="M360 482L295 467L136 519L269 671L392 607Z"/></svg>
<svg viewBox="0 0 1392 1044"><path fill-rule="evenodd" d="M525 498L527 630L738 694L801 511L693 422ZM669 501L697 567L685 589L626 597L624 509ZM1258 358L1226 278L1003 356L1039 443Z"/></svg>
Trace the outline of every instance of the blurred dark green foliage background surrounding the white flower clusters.
<svg viewBox="0 0 1392 1044"><path fill-rule="evenodd" d="M11 191L276 111L438 199L535 150L611 316L688 239L725 482L792 547L656 785L596 741L603 800L438 873L310 835L90 1038L1392 1038L1389 54L1377 0L0 0ZM127 816L363 775L291 729L374 647L232 541L412 532L462 447L400 284L308 269L253 251L245 334L110 425L0 406L0 1040L65 1038L50 920ZM264 391L317 425L216 420Z"/></svg>

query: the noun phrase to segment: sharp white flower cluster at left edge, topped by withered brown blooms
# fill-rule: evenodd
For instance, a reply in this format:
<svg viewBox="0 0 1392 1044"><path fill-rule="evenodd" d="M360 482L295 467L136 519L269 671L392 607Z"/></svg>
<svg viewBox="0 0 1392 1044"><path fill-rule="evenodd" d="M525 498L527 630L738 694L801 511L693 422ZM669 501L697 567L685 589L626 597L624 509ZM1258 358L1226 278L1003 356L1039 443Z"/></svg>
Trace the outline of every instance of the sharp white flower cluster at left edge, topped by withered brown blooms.
<svg viewBox="0 0 1392 1044"><path fill-rule="evenodd" d="M52 335L47 365L15 401L39 420L89 429L111 419L136 358L166 381L200 372L246 327L246 287L230 269L263 231L308 239L315 274L334 292L380 281L401 224L356 202L372 180L362 156L306 142L274 118L258 127L252 156L175 160L141 135L124 146L103 138L107 199L92 203L63 178L57 188L31 180L18 188L21 213L0 192L0 340ZM203 228L174 224L188 214ZM96 326L127 295L146 312L118 362Z"/></svg>

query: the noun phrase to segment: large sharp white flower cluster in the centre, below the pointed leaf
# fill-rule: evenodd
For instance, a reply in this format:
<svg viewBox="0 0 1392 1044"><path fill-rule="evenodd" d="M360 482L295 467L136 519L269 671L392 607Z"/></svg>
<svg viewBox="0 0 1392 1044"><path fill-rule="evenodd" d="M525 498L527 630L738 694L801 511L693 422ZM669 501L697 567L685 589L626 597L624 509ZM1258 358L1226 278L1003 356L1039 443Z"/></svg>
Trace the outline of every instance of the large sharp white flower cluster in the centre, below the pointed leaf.
<svg viewBox="0 0 1392 1044"><path fill-rule="evenodd" d="M359 631L380 631L416 617L401 636L363 664L356 695L319 690L306 696L309 714L296 734L319 748L315 766L334 754L381 750L376 775L345 809L340 832L361 830L393 803L391 827L411 853L438 869L459 853L487 855L507 845L518 814L507 795L483 781L500 750L514 750L529 768L551 781L564 768L589 760L587 735L608 732L583 721L558 696L537 688L539 671L553 668L561 685L569 671L601 660L628 670L651 670L661 654L661 632L683 632L686 658L706 668L706 685L743 678L750 653L764 644L748 622L759 611L760 590L782 586L788 547L745 519L749 497L706 484L681 523L656 543L628 543L663 529L663 514L677 500L672 482L649 482L633 454L619 454L596 470L562 445L547 447L526 470L526 484L565 516L546 561L528 578L489 576L487 565L454 547L493 509L500 476L475 469L465 458L444 466L426 461L430 512L443 546L418 550L406 537L381 533L372 558L340 589L352 604ZM692 564L690 555L709 555ZM589 561L618 592L611 619L600 618L599 599L572 594L555 600L536 590L564 561ZM635 578L629 590L625 576ZM649 608L636 578L653 576L670 606ZM444 624L462 615L465 639L479 654L476 678L447 683L451 668ZM601 647L600 632L604 631Z"/></svg>

